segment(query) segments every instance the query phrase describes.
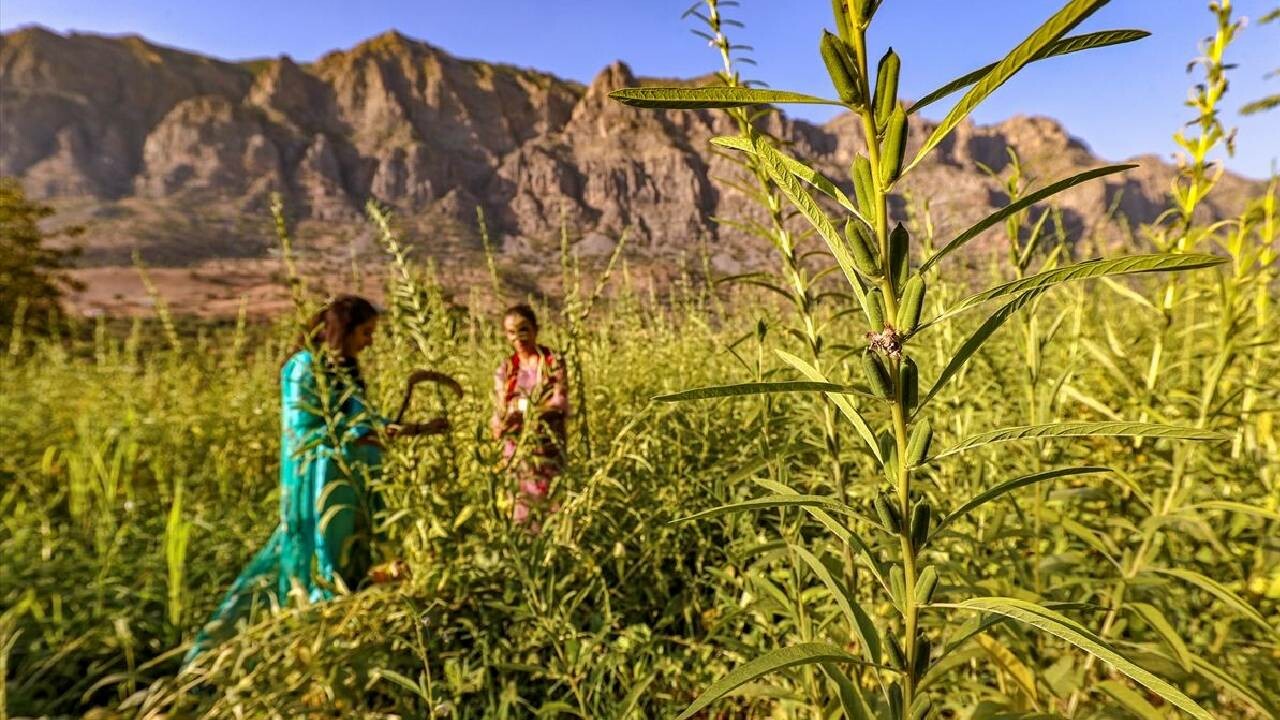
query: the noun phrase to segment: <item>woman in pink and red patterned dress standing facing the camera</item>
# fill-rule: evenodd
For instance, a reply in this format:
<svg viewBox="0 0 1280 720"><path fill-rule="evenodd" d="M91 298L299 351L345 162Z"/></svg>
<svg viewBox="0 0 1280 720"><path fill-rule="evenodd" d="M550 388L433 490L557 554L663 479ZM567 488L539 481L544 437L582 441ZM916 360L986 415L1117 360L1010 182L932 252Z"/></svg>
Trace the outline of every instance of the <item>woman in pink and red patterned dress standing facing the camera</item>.
<svg viewBox="0 0 1280 720"><path fill-rule="evenodd" d="M556 511L549 495L564 461L568 380L559 355L538 345L538 316L530 306L508 307L502 328L515 352L494 373L489 429L502 441L502 456L516 480L512 518L538 532L532 514Z"/></svg>

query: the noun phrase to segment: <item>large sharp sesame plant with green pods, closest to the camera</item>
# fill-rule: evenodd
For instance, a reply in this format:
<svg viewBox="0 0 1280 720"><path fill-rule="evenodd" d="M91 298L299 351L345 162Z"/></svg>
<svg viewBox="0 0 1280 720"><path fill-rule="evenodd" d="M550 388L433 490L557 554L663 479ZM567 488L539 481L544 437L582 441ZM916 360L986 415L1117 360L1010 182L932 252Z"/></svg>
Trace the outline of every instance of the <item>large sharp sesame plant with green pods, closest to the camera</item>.
<svg viewBox="0 0 1280 720"><path fill-rule="evenodd" d="M905 104L897 92L901 61L887 50L870 72L867 32L881 8L877 0L833 3L835 32L823 32L819 55L831 77L835 99L817 97L785 90L718 85L709 87L637 87L612 94L620 102L654 109L741 109L763 104L827 104L847 109L860 120L864 152L850 168L854 192L846 193L800 160L788 156L767 136L750 132L718 137L713 142L753 158L791 208L824 241L827 250L847 281L867 319L865 351L861 354L861 384L819 383L796 387L792 383L719 384L664 396L662 400L686 401L733 395L777 392L824 392L841 410L861 439L861 466L867 470L858 483L873 486L870 502L851 505L842 496L801 493L776 480L760 480L769 491L764 496L722 505L690 519L710 518L748 510L801 507L826 528L841 547L856 553L867 570L865 587L851 587L835 578L820 555L827 542L796 542L790 550L800 559L795 565L813 573L840 609L840 618L826 634L836 642L800 637L785 647L765 652L736 667L707 688L681 717L690 717L736 688L764 675L795 667L819 666L829 678L831 697L838 698L847 717L890 717L893 720L928 717L955 710L952 693L943 678L966 660L970 643L989 644L989 630L997 624L1020 624L1065 642L1088 659L1084 673L1101 661L1126 682L1140 687L1148 697L1160 698L1194 717L1211 717L1207 710L1174 683L1162 679L1130 657L1108 639L1111 621L1092 629L1073 618L1082 610L1069 593L1034 592L1016 588L1007 594L986 594L977 577L948 562L974 539L963 529L980 525L979 511L1014 491L1057 478L1079 478L1111 473L1097 465L1053 466L1030 474L998 478L973 497L950 498L931 492L931 475L989 446L1047 438L1082 438L1097 442L1103 437L1146 438L1148 443L1171 446L1188 441L1221 442L1228 436L1204 423L1193 425L1152 423L1152 418L1108 419L1106 421L1034 421L1010 424L969 433L950 446L933 443L934 421L931 404L946 389L948 380L969 363L979 348L1010 318L1021 310L1033 311L1037 299L1057 284L1115 278L1152 272L1194 270L1221 265L1225 259L1162 249L1146 255L1092 259L1074 264L1048 263L1032 274L1018 273L998 283L956 300L933 316L925 316L928 286L942 274L942 263L983 231L1014 218L1036 202L1044 201L1079 183L1124 172L1133 165L1108 165L1055 181L1018 196L970 228L960 232L928 256L913 264L911 234L890 214L888 197L929 154L982 101L1014 74L1048 58L1139 40L1142 31L1103 31L1069 35L1085 18L1101 9L1105 0L1071 0L1044 20L1004 59L966 73L914 104ZM908 152L908 123L922 108L960 94L937 124L925 127L923 141ZM815 195L817 193L817 195ZM826 196L827 205L818 196ZM832 219L827 208L835 206ZM838 228L844 225L844 232ZM1021 260L1023 252L1019 251ZM1030 254L1027 254L1030 258ZM1021 265L1021 263L1019 263ZM937 272L937 275L932 274ZM932 379L922 378L915 347L927 333L957 322L963 315L991 301L1000 306L963 342L947 348L942 366ZM925 386L922 387L922 382ZM940 423L941 425L942 423ZM874 471L872 471L874 470ZM1064 518L1062 523L1069 521ZM1149 541L1134 552L1142 556ZM805 547L808 546L808 547ZM941 571L948 571L942 577ZM1176 573L1176 570L1174 570ZM868 588L873 591L868 593ZM1014 588L1010 588L1014 589ZM1212 591L1212 587L1211 587ZM874 600L868 600L872 594ZM1231 597L1219 594L1226 602ZM891 611L881 614L886 603ZM794 601L801 606L803 598ZM1266 625L1263 623L1263 625ZM838 628L838 629L837 629ZM986 641L983 638L987 638ZM1039 698L1041 670L1036 659L1009 648L991 653L1018 676L1030 710L1042 708L1073 715L1080 691L1061 698ZM1120 684L1116 694L1138 694ZM1014 693L1018 694L1018 693ZM1143 701L1146 702L1146 701ZM819 712L826 705L814 707ZM1015 705L1016 707L1016 705Z"/></svg>

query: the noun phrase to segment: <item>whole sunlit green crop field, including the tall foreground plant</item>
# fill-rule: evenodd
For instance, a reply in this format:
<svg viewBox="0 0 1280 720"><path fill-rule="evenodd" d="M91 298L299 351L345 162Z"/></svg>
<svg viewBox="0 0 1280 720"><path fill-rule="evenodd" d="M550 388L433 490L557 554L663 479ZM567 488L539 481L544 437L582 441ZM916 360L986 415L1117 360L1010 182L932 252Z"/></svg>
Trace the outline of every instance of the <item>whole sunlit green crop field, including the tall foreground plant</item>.
<svg viewBox="0 0 1280 720"><path fill-rule="evenodd" d="M1140 37L1065 36L1097 5L1066 3L927 99L972 86L915 159L997 76ZM580 273L566 240L564 292L539 311L573 413L539 533L512 523L486 430L500 318L467 310L522 299L495 266L492 288L445 297L369 206L388 259L370 396L389 411L416 368L466 389L415 401L452 430L390 443L378 484L379 552L412 577L260 612L180 673L278 523L297 319L187 322L163 299L154 319L51 334L15 318L0 357L4 712L1280 717L1276 183L1236 218L1199 206L1226 137L1229 4L1171 210L1108 259L1087 258L1102 243L1070 237L1051 196L1119 165L1029 184L1015 159L1009 206L956 236L936 237L923 206L891 218L914 167L899 61L886 54L873 88L878 3L835 6L823 59L878 138L845 186L753 124L760 102L795 99L739 83L716 1L721 85L614 94L739 120L716 142L777 268L710 278L691 260L655 291L616 258ZM283 218L301 314L321 299Z"/></svg>

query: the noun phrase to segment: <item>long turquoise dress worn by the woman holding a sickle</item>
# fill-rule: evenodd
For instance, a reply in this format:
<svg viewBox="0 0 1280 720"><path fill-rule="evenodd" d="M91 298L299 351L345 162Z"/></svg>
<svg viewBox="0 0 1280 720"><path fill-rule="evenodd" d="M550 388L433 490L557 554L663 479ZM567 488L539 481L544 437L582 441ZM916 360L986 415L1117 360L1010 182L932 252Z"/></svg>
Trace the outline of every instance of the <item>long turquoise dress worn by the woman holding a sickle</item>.
<svg viewBox="0 0 1280 720"><path fill-rule="evenodd" d="M381 510L369 488L381 450L358 441L385 419L369 409L358 378L340 369L325 373L326 411L317 368L303 350L280 370L280 524L196 635L184 665L233 635L256 607L279 607L298 593L321 602L339 580L356 589L369 573L372 516Z"/></svg>

